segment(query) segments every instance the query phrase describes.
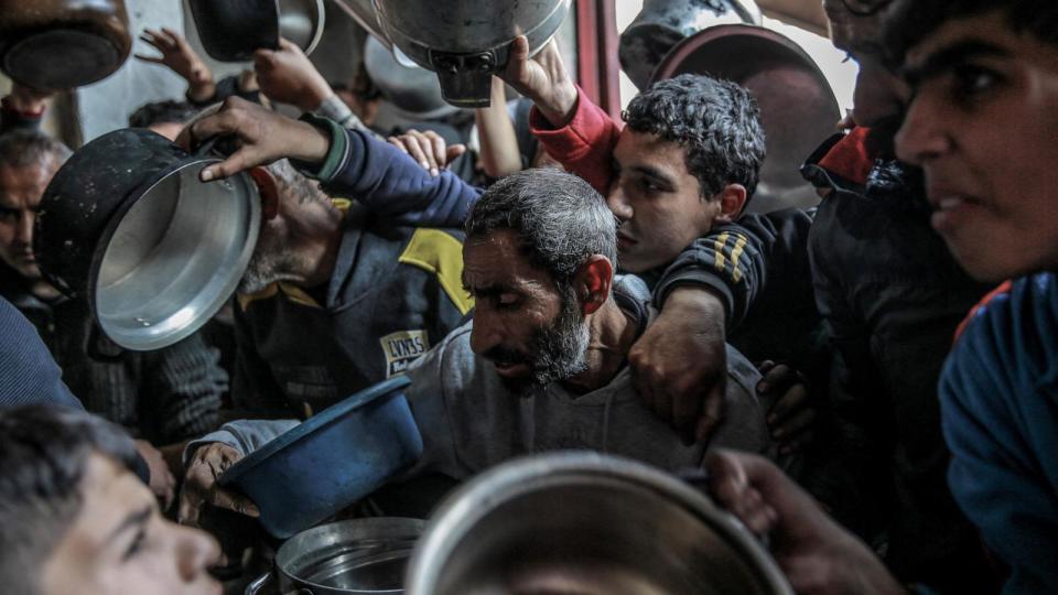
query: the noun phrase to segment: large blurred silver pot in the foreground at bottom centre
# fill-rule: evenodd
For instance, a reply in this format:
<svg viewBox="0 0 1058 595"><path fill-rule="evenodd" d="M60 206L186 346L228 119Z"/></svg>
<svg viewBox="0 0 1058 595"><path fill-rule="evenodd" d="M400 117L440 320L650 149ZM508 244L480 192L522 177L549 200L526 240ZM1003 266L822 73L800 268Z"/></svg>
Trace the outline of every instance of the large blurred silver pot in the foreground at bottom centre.
<svg viewBox="0 0 1058 595"><path fill-rule="evenodd" d="M641 463L565 452L489 470L441 506L409 595L791 595L709 497Z"/></svg>

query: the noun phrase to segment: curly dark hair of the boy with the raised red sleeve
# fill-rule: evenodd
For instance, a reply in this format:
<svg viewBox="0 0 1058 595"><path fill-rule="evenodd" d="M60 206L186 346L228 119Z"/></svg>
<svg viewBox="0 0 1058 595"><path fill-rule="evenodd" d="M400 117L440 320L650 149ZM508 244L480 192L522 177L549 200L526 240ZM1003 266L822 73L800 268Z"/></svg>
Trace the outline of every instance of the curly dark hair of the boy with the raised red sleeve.
<svg viewBox="0 0 1058 595"><path fill-rule="evenodd" d="M744 87L704 75L659 80L622 113L636 132L658 134L687 151L687 171L702 196L742 184L747 198L760 177L766 152L760 109Z"/></svg>

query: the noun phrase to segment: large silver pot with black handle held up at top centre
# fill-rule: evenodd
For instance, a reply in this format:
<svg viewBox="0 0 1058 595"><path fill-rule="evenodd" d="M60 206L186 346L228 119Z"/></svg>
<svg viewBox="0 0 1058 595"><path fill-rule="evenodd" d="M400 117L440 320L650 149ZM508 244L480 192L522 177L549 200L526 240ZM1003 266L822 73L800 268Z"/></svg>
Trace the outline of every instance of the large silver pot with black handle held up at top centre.
<svg viewBox="0 0 1058 595"><path fill-rule="evenodd" d="M551 40L570 0L373 0L389 41L438 73L444 99L488 107L492 75L507 64L510 42L529 37L530 53Z"/></svg>

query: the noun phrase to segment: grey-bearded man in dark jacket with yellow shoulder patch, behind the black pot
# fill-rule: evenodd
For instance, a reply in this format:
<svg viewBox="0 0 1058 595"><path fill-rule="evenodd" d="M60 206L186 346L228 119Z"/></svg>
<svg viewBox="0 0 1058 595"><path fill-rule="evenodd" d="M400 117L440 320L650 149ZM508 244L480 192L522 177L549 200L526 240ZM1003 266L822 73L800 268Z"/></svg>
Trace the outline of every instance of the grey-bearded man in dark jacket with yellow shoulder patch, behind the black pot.
<svg viewBox="0 0 1058 595"><path fill-rule="evenodd" d="M235 304L233 400L249 418L306 418L403 372L458 326L458 230L332 199L281 160L251 172L262 224Z"/></svg>

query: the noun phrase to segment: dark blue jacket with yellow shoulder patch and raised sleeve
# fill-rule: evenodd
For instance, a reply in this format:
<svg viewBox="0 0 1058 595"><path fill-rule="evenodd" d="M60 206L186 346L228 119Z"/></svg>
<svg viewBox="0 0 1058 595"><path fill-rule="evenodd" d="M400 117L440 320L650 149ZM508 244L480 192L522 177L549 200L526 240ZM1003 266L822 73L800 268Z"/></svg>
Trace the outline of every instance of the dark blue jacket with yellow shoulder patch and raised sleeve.
<svg viewBox="0 0 1058 595"><path fill-rule="evenodd" d="M473 307L453 227L478 191L449 172L431 176L369 133L315 121L331 128L332 151L306 173L355 203L326 286L238 296L233 399L253 416L312 415L402 374Z"/></svg>

